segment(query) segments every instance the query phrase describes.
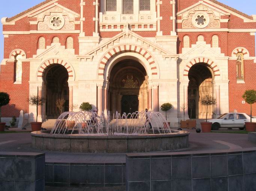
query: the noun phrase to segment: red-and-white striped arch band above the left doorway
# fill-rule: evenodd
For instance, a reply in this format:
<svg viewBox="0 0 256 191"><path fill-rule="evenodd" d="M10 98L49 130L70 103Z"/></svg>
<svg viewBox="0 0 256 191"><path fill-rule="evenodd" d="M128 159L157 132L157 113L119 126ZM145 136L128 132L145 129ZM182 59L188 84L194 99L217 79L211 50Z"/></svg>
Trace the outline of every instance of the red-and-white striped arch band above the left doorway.
<svg viewBox="0 0 256 191"><path fill-rule="evenodd" d="M70 63L68 63L62 59L49 59L40 65L40 67L37 71L37 81L39 81L39 79L43 79L45 69L53 64L60 64L60 65L64 66L67 69L67 72L69 74L69 79L71 79L71 81L75 80L74 69Z"/></svg>

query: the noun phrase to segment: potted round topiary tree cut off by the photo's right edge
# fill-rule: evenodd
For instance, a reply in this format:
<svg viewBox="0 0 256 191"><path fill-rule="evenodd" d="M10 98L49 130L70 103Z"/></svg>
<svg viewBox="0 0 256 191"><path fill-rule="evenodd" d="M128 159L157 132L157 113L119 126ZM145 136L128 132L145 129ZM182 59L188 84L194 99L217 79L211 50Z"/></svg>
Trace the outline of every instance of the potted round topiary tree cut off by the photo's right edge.
<svg viewBox="0 0 256 191"><path fill-rule="evenodd" d="M246 131L255 131L256 123L252 122L252 104L256 103L256 91L255 90L246 90L244 95L242 96L246 103L250 104L251 107L251 114L250 114L250 122L246 123Z"/></svg>

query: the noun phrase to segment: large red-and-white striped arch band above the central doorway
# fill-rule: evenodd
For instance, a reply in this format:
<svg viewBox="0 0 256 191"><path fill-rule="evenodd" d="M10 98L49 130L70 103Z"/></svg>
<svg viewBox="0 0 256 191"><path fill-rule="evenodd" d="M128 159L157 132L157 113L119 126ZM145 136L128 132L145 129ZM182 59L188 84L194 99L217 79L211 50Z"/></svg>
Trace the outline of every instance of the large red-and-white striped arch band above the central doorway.
<svg viewBox="0 0 256 191"><path fill-rule="evenodd" d="M157 75L156 62L154 61L153 57L151 56L150 53L148 53L147 50L136 45L120 45L112 48L103 56L99 64L98 76L104 75L106 64L108 63L108 60L111 59L111 57L123 52L135 52L135 53L141 54L150 64L151 72L152 72L151 74Z"/></svg>

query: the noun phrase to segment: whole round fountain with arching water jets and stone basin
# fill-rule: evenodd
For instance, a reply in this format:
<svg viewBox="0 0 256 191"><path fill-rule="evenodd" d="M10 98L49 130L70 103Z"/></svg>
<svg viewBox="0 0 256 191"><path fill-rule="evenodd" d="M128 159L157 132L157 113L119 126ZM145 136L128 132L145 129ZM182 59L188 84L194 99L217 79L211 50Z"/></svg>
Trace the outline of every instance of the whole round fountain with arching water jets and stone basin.
<svg viewBox="0 0 256 191"><path fill-rule="evenodd" d="M34 148L85 153L127 153L188 147L187 131L172 130L160 112L64 112L51 131L31 132Z"/></svg>

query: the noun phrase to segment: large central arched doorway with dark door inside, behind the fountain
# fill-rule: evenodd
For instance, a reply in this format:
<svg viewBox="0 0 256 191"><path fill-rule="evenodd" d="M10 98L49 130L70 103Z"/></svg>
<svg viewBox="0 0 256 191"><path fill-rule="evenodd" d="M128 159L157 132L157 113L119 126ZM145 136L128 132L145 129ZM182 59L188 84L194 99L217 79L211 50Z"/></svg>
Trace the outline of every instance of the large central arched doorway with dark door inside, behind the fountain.
<svg viewBox="0 0 256 191"><path fill-rule="evenodd" d="M148 77L144 66L136 60L121 60L111 69L108 110L132 113L148 107Z"/></svg>

